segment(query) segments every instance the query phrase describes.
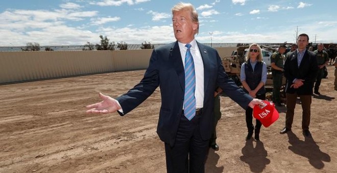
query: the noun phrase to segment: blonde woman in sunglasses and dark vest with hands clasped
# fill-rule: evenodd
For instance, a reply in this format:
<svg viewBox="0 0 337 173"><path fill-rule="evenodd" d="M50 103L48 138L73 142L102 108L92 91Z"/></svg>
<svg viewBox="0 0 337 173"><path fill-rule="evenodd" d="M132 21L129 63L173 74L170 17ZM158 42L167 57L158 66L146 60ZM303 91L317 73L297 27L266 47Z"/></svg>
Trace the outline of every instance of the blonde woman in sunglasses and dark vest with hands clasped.
<svg viewBox="0 0 337 173"><path fill-rule="evenodd" d="M267 65L262 61L261 47L258 44L251 44L249 52L246 54L246 62L242 64L240 71L240 80L244 86L244 91L253 98L266 100L266 89L264 84L267 81ZM248 135L246 140L253 136L253 109L248 107L246 109L246 124L248 128ZM256 119L255 125L255 140L260 140L259 134L261 129L261 122Z"/></svg>

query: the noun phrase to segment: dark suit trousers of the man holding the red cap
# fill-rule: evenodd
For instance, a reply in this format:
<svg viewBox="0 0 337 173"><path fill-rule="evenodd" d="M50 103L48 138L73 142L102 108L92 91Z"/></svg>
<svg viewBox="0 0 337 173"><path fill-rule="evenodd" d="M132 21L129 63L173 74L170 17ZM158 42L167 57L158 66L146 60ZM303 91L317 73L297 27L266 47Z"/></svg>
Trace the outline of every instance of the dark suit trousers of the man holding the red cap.
<svg viewBox="0 0 337 173"><path fill-rule="evenodd" d="M181 114L174 147L165 143L166 168L168 173L203 173L209 140L200 135L200 116L191 121Z"/></svg>

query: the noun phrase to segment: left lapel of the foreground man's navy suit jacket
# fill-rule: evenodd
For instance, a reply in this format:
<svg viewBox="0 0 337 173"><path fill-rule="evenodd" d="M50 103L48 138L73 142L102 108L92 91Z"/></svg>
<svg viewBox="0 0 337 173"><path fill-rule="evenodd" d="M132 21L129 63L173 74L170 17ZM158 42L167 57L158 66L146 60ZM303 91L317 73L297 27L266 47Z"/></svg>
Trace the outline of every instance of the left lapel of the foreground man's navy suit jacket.
<svg viewBox="0 0 337 173"><path fill-rule="evenodd" d="M185 70L181 57L178 41L176 41L173 47L171 47L169 59L170 62L173 62L174 68L176 69L181 90L185 92Z"/></svg>

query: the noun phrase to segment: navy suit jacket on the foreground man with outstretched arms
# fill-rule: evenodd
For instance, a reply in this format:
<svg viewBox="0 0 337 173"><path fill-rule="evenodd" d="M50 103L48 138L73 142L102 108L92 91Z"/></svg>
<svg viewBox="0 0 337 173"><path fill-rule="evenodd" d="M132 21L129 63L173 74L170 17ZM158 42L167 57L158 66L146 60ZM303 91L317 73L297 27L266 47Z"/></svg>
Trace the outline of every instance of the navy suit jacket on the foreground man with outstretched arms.
<svg viewBox="0 0 337 173"><path fill-rule="evenodd" d="M218 51L199 42L197 44L204 65L204 106L200 132L202 139L207 140L213 124L213 94L216 85L245 109L253 98L238 88L225 73ZM157 134L171 146L175 143L184 103L185 73L181 57L177 41L154 49L142 80L128 93L116 98L123 108L123 113L118 113L123 116L145 101L159 86L161 107Z"/></svg>

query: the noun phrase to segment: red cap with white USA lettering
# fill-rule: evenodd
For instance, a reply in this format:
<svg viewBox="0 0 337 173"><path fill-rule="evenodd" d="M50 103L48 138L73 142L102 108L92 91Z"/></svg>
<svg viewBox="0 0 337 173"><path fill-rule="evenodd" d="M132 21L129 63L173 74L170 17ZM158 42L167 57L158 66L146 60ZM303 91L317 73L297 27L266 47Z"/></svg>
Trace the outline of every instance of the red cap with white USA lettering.
<svg viewBox="0 0 337 173"><path fill-rule="evenodd" d="M279 118L279 114L273 103L267 100L263 100L263 103L263 106L254 106L253 116L259 120L264 127L269 127Z"/></svg>

